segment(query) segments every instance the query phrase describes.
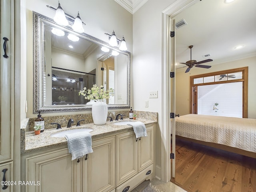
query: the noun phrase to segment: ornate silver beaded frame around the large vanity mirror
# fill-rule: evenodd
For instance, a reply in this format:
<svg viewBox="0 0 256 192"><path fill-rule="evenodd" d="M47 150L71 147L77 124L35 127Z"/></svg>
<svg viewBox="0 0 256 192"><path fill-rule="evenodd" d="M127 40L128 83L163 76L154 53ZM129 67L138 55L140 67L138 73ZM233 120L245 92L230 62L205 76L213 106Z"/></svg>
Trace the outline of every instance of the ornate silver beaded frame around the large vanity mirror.
<svg viewBox="0 0 256 192"><path fill-rule="evenodd" d="M108 104L109 109L120 109L120 108L130 108L130 52L120 51L116 47L112 47L106 42L90 36L88 34L76 33L72 30L70 26L59 26L51 18L44 15L33 12L33 113L40 112L68 112L68 111L82 111L91 110L91 105L76 104L76 105L44 105L44 23L48 23L52 26L62 28L65 31L71 32L84 38L88 41L94 42L99 46L105 46L112 50L116 50L127 56L127 103L126 104ZM125 83L125 82L120 82Z"/></svg>

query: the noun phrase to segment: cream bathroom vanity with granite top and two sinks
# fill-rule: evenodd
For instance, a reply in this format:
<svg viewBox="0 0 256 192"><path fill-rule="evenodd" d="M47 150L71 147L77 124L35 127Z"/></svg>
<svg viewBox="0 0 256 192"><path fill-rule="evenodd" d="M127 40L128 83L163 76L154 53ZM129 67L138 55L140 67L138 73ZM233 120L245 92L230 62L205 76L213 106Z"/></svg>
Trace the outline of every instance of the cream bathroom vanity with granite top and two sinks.
<svg viewBox="0 0 256 192"><path fill-rule="evenodd" d="M80 128L92 129L93 153L76 160L71 160L66 138L51 136L69 128L48 129L38 136L26 132L22 180L34 184L22 186L23 190L128 192L145 179L154 178L156 121L136 121L146 125L147 137L136 139L131 126L115 125L114 122L101 126L82 125Z"/></svg>

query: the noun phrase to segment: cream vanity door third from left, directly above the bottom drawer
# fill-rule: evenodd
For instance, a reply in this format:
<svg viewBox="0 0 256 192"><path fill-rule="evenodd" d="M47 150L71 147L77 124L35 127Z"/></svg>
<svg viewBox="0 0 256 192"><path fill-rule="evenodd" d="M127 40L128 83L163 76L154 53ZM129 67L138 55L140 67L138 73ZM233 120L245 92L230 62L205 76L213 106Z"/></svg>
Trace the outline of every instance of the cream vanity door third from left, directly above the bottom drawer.
<svg viewBox="0 0 256 192"><path fill-rule="evenodd" d="M116 185L138 173L138 142L134 132L116 136Z"/></svg>

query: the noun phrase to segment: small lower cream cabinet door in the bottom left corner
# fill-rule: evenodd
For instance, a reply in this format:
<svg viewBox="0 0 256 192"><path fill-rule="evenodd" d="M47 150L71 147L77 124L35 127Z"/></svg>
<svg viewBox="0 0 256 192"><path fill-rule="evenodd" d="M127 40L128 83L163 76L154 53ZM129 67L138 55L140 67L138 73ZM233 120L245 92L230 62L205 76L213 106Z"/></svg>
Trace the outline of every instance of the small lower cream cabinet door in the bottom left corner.
<svg viewBox="0 0 256 192"><path fill-rule="evenodd" d="M12 162L11 163L3 163L0 165L0 179L1 182L5 181L7 182L7 185L0 185L0 192L12 192L13 191L13 185L18 185L18 181L16 183L13 183L13 177L12 177Z"/></svg>

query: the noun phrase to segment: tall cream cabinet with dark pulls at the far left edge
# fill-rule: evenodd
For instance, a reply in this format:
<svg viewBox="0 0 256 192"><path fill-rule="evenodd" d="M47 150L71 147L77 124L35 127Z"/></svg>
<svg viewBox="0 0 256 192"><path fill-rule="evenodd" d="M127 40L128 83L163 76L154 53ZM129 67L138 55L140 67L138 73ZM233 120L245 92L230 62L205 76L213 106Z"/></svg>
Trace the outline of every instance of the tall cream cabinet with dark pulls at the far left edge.
<svg viewBox="0 0 256 192"><path fill-rule="evenodd" d="M13 182L13 38L11 0L0 0L0 181ZM0 185L0 192L13 186Z"/></svg>

